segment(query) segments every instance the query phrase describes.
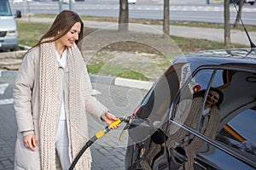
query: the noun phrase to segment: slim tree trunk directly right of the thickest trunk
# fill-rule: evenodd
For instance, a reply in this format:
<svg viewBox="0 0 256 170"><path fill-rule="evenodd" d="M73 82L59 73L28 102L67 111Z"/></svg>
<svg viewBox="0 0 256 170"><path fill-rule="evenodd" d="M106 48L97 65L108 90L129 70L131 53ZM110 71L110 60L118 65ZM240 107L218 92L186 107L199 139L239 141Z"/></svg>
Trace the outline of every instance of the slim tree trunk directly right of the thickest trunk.
<svg viewBox="0 0 256 170"><path fill-rule="evenodd" d="M170 36L170 2L169 0L164 0L164 23L163 23L163 31L164 37Z"/></svg>

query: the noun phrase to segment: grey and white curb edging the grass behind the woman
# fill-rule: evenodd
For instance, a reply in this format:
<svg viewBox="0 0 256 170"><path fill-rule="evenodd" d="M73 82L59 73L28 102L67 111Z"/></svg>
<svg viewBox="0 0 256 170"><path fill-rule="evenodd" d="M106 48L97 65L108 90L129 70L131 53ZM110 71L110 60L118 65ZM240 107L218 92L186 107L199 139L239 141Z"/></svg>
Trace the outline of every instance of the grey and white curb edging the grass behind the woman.
<svg viewBox="0 0 256 170"><path fill-rule="evenodd" d="M17 71L5 71L0 70L0 77L15 77ZM92 83L102 83L114 86L122 86L126 88L137 88L143 90L149 90L154 82L146 82L140 80L132 80L121 77L107 77L107 76L99 76L99 75L89 75L90 82Z"/></svg>

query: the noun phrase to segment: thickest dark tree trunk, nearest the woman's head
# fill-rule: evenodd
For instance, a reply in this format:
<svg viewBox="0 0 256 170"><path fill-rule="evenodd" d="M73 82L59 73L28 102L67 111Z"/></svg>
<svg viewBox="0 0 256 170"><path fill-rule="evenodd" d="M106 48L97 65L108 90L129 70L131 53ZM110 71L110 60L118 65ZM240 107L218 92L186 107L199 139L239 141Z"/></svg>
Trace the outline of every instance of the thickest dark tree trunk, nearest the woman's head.
<svg viewBox="0 0 256 170"><path fill-rule="evenodd" d="M129 8L128 0L119 0L119 31L128 31Z"/></svg>

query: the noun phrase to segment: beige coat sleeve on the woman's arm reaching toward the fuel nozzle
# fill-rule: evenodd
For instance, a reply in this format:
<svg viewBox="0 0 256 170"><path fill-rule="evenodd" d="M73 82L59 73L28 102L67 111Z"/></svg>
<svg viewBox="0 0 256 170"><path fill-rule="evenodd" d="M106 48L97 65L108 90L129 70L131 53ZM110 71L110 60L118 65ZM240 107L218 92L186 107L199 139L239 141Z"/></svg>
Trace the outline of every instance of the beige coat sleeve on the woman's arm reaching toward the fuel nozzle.
<svg viewBox="0 0 256 170"><path fill-rule="evenodd" d="M85 68L84 71L85 75L85 105L86 105L86 111L88 111L91 115L96 116L99 120L102 120L102 116L105 114L105 112L109 111L108 108L105 105L102 105L101 102L99 102L92 94L92 87L90 82L90 77L87 72L87 69Z"/></svg>

